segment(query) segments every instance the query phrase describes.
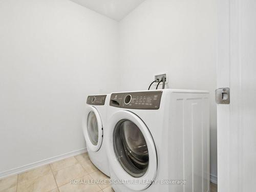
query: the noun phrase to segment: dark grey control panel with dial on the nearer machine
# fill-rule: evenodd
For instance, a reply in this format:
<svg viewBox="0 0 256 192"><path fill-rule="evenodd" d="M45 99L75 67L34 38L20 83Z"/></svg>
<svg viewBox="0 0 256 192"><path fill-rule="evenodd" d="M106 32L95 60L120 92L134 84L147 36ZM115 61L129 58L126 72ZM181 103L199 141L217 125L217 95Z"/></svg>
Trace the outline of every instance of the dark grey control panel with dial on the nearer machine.
<svg viewBox="0 0 256 192"><path fill-rule="evenodd" d="M161 97L162 91L113 93L110 97L110 105L126 109L158 110Z"/></svg>

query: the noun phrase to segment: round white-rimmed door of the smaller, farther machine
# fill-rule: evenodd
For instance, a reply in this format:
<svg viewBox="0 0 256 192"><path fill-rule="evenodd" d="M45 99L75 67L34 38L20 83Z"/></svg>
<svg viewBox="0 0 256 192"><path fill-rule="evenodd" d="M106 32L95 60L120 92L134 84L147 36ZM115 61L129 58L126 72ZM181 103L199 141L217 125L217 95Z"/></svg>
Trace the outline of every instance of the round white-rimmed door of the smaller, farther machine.
<svg viewBox="0 0 256 192"><path fill-rule="evenodd" d="M83 117L83 134L87 147L91 151L98 151L103 137L103 126L100 114L94 106L88 106Z"/></svg>

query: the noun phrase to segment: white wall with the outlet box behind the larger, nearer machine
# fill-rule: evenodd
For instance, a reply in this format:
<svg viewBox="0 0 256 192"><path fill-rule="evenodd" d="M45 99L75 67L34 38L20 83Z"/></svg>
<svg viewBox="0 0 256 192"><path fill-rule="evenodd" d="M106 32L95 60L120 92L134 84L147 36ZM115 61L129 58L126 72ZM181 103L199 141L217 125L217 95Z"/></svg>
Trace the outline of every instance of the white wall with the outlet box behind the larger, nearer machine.
<svg viewBox="0 0 256 192"><path fill-rule="evenodd" d="M210 91L210 161L214 176L216 30L214 0L146 0L119 24L121 90L145 90L155 73L168 71L169 88Z"/></svg>

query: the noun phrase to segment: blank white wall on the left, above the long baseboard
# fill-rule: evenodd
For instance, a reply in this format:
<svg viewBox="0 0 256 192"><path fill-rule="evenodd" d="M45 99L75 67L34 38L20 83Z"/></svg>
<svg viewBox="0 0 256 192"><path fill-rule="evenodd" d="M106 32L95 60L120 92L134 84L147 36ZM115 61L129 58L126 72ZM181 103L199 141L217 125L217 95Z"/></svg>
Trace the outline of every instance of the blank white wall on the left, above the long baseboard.
<svg viewBox="0 0 256 192"><path fill-rule="evenodd" d="M68 0L0 1L0 175L86 147L86 95L117 87L117 32Z"/></svg>

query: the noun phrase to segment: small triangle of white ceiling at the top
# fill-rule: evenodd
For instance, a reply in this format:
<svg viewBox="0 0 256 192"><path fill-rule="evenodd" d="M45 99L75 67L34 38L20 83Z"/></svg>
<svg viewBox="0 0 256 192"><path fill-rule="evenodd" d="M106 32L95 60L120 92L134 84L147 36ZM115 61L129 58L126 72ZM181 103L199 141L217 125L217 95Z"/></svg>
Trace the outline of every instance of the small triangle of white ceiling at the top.
<svg viewBox="0 0 256 192"><path fill-rule="evenodd" d="M121 20L145 0L71 0L102 15Z"/></svg>

